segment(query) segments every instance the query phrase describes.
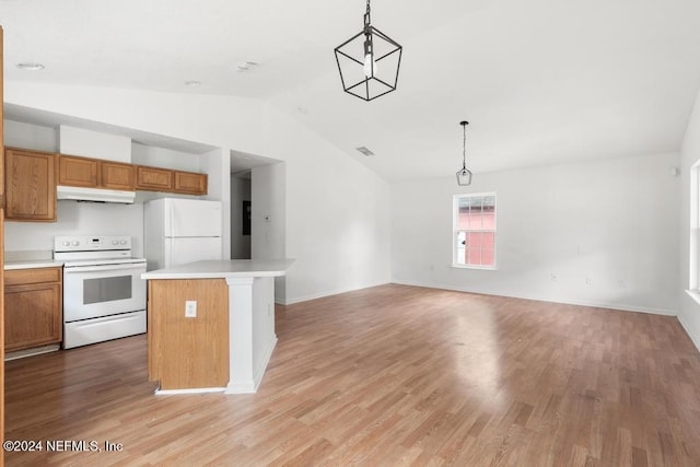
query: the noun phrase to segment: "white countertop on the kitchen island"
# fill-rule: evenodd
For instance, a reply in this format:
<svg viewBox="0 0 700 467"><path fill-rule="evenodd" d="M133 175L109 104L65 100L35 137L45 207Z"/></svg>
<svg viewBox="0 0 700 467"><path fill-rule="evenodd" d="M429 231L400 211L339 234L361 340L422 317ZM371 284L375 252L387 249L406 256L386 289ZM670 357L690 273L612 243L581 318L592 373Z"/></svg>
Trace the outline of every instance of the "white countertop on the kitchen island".
<svg viewBox="0 0 700 467"><path fill-rule="evenodd" d="M225 279L284 276L293 259L228 259L196 261L141 275L141 279Z"/></svg>

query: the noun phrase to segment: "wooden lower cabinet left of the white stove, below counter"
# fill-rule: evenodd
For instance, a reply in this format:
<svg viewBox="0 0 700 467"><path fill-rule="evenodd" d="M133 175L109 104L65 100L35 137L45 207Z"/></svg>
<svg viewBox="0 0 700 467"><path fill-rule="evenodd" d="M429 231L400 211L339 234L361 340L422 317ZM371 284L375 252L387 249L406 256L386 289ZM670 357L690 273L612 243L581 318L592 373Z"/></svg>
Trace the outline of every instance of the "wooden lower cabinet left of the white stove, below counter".
<svg viewBox="0 0 700 467"><path fill-rule="evenodd" d="M4 271L4 350L60 343L61 268Z"/></svg>

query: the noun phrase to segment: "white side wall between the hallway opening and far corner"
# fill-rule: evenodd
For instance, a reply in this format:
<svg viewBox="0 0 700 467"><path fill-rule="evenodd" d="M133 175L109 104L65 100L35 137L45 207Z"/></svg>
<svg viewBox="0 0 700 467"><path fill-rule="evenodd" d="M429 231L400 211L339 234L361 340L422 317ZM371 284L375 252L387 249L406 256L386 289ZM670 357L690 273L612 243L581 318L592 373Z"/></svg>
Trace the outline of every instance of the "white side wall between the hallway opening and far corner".
<svg viewBox="0 0 700 467"><path fill-rule="evenodd" d="M287 303L388 282L389 185L301 124L273 109L268 121L287 161Z"/></svg>

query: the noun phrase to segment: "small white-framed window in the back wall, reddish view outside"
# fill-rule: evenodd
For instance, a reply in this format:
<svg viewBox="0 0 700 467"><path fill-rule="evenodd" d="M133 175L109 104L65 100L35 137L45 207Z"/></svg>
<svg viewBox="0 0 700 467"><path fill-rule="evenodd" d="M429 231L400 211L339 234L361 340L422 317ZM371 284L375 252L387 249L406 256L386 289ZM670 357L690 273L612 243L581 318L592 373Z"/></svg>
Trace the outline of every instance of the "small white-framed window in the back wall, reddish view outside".
<svg viewBox="0 0 700 467"><path fill-rule="evenodd" d="M495 194L455 195L453 266L495 268Z"/></svg>

